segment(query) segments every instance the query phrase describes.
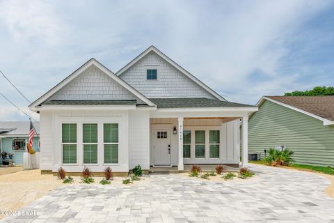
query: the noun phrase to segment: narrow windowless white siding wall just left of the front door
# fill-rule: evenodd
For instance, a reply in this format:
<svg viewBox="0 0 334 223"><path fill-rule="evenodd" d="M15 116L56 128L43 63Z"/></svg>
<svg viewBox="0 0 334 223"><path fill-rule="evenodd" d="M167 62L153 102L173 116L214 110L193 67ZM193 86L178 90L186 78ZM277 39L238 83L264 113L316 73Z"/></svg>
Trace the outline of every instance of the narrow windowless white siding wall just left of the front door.
<svg viewBox="0 0 334 223"><path fill-rule="evenodd" d="M150 169L150 113L129 112L129 169Z"/></svg>

